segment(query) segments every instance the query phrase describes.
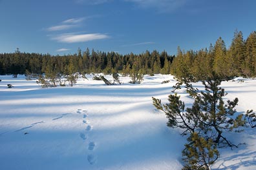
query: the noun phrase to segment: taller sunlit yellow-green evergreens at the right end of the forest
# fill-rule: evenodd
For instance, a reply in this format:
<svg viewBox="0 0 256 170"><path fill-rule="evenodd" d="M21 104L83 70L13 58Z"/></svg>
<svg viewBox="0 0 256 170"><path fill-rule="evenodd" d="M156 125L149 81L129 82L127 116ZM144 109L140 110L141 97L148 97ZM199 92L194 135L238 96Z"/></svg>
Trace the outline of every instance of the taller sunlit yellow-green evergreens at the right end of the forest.
<svg viewBox="0 0 256 170"><path fill-rule="evenodd" d="M244 40L242 32L234 33L230 47L221 37L209 48L198 51L178 52L171 64L171 73L177 79L206 80L211 73L224 79L235 76L256 77L256 32Z"/></svg>

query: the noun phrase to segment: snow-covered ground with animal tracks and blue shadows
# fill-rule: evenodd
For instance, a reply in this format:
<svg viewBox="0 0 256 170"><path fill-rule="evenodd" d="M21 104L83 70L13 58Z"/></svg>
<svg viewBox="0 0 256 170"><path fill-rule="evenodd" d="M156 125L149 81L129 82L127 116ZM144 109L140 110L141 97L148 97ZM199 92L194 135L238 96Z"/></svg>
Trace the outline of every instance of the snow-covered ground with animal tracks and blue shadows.
<svg viewBox="0 0 256 170"><path fill-rule="evenodd" d="M23 75L0 79L0 169L182 168L186 137L166 126L151 99L167 102L176 83L171 75L145 76L142 84L121 77L124 84L116 86L89 77L57 88L41 88ZM256 80L222 82L222 88L229 99L239 98L239 113L256 110ZM178 93L192 104L184 90ZM255 132L231 133L234 144L245 144L220 149L212 169L256 169Z"/></svg>

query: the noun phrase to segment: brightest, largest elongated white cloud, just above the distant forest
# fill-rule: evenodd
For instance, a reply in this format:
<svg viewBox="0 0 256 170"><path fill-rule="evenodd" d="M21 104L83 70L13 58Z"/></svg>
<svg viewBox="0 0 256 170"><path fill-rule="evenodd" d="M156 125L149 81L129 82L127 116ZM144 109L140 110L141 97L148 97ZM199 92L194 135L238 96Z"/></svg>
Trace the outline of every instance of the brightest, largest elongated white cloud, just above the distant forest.
<svg viewBox="0 0 256 170"><path fill-rule="evenodd" d="M74 42L87 42L94 41L99 39L107 39L109 35L102 33L87 33L87 34L73 34L73 33L65 33L53 37L52 39L58 42L66 42L66 43L74 43Z"/></svg>

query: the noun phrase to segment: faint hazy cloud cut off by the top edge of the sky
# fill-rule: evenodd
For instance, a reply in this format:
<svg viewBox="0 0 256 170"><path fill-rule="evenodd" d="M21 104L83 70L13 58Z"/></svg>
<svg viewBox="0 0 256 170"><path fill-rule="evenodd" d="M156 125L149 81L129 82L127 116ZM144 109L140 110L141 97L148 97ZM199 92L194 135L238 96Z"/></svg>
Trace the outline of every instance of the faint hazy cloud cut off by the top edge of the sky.
<svg viewBox="0 0 256 170"><path fill-rule="evenodd" d="M186 5L189 0L124 0L142 8L156 8L159 12L173 12Z"/></svg>

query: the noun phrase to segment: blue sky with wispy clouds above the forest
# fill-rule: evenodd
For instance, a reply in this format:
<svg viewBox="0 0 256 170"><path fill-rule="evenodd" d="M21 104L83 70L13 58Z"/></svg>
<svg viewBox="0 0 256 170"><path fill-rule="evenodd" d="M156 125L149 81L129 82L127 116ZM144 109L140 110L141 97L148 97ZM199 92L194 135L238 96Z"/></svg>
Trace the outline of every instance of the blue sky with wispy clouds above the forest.
<svg viewBox="0 0 256 170"><path fill-rule="evenodd" d="M256 30L254 0L0 0L0 53L176 54Z"/></svg>

